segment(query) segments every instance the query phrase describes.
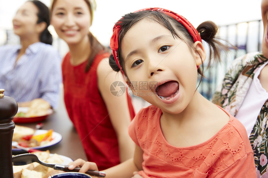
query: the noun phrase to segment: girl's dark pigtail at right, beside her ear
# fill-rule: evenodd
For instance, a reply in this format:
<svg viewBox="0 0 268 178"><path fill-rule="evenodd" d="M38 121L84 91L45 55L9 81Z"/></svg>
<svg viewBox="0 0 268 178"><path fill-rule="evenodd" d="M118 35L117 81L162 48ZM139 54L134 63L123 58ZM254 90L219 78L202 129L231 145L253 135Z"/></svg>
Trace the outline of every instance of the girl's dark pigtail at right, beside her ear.
<svg viewBox="0 0 268 178"><path fill-rule="evenodd" d="M218 26L212 21L205 21L201 23L196 28L196 30L199 32L201 39L203 39L205 42L208 43L209 47L208 67L211 64L212 58L214 62L221 62L221 52L229 51L228 48L229 46L221 43L220 42L221 39L216 37L218 33Z"/></svg>

